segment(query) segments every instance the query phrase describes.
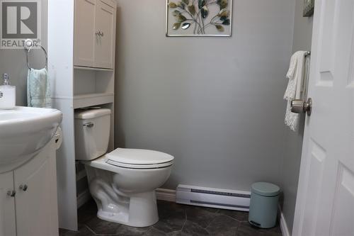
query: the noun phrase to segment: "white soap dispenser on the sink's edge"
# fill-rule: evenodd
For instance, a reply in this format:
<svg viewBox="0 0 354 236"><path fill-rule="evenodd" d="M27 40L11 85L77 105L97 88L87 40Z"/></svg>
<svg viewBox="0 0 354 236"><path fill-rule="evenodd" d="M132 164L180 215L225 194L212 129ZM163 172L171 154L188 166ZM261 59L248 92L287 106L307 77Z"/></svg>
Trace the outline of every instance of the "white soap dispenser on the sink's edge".
<svg viewBox="0 0 354 236"><path fill-rule="evenodd" d="M16 86L10 85L8 74L3 74L3 85L0 85L0 109L13 109L16 106Z"/></svg>

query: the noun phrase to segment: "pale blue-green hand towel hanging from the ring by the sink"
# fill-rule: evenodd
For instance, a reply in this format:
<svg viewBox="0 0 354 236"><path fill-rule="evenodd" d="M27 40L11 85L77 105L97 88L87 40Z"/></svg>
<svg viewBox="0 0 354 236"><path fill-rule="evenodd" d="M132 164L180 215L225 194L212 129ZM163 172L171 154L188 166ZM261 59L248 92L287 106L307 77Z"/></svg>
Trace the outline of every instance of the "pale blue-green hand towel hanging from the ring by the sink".
<svg viewBox="0 0 354 236"><path fill-rule="evenodd" d="M33 107L52 107L47 69L28 69L27 103Z"/></svg>

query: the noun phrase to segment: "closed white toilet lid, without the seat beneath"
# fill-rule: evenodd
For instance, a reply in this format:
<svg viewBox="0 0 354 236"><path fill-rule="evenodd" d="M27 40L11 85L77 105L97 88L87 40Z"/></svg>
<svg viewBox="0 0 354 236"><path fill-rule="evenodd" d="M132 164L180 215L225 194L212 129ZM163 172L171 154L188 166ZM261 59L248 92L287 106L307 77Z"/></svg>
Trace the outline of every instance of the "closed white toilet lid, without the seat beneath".
<svg viewBox="0 0 354 236"><path fill-rule="evenodd" d="M108 163L128 165L154 165L173 161L174 157L164 152L143 149L117 148L105 154Z"/></svg>

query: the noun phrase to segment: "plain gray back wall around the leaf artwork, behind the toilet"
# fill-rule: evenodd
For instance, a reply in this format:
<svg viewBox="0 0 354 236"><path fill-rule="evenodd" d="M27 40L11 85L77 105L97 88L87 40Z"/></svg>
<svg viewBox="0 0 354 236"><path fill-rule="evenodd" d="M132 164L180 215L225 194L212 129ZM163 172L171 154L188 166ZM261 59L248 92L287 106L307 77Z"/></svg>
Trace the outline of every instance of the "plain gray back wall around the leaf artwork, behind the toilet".
<svg viewBox="0 0 354 236"><path fill-rule="evenodd" d="M165 0L118 0L115 146L160 150L164 187L280 182L292 0L235 0L232 38L166 38Z"/></svg>

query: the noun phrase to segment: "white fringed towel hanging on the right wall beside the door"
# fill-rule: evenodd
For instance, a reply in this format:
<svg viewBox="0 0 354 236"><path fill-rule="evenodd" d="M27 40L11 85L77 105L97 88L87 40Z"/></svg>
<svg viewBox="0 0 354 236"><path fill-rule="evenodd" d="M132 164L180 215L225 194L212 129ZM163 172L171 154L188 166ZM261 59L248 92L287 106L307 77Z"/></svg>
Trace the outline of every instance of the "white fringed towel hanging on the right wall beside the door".
<svg viewBox="0 0 354 236"><path fill-rule="evenodd" d="M297 130L299 125L299 114L291 112L291 101L293 99L302 99L304 95L304 56L306 51L297 51L290 59L287 78L289 82L284 94L284 99L287 100L287 109L285 112L285 124L290 127L290 130Z"/></svg>

